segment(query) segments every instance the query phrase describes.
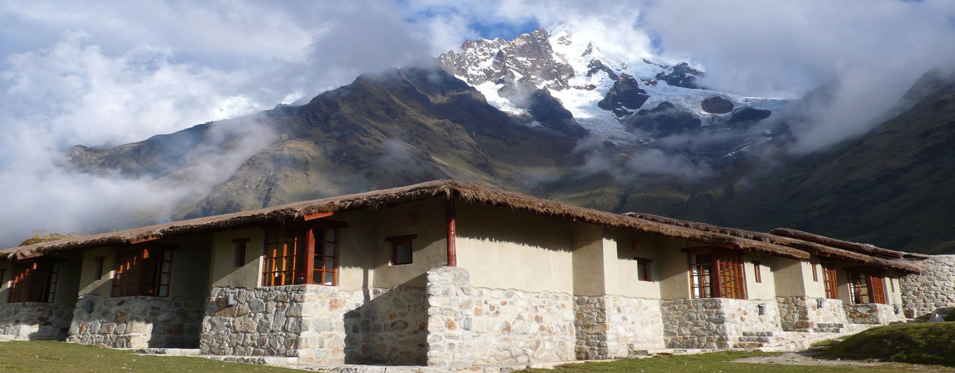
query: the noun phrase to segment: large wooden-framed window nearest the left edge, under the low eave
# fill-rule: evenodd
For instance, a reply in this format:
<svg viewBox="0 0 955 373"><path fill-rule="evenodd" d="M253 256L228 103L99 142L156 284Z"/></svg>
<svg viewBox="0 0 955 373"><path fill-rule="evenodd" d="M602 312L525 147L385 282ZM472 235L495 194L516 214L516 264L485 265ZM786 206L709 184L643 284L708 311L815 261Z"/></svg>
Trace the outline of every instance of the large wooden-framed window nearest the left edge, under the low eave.
<svg viewBox="0 0 955 373"><path fill-rule="evenodd" d="M13 264L8 302L52 303L59 280L59 263L44 259Z"/></svg>

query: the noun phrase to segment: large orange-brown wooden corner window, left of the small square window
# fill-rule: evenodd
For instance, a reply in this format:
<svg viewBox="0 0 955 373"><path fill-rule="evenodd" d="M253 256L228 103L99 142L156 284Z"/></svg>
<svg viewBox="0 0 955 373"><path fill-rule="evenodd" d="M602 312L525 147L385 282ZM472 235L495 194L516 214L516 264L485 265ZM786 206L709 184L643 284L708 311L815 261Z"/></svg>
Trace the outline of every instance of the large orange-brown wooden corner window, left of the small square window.
<svg viewBox="0 0 955 373"><path fill-rule="evenodd" d="M338 228L302 227L265 232L263 286L337 283Z"/></svg>

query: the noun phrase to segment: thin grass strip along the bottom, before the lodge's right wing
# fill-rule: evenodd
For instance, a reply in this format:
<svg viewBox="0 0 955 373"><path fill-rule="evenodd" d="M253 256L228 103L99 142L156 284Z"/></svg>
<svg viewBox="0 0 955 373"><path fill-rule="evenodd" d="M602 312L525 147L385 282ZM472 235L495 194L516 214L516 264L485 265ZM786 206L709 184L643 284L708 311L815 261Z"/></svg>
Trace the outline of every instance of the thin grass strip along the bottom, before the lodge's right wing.
<svg viewBox="0 0 955 373"><path fill-rule="evenodd" d="M937 371L923 367L902 366L900 364L881 366L820 366L820 365L780 365L760 363L731 363L733 360L775 355L762 352L714 352L710 354L657 356L647 359L624 359L608 363L571 363L550 369L528 369L528 373L795 373L795 372L836 372L836 373L888 373L900 371ZM911 368L912 370L906 370ZM944 371L951 371L945 369Z"/></svg>

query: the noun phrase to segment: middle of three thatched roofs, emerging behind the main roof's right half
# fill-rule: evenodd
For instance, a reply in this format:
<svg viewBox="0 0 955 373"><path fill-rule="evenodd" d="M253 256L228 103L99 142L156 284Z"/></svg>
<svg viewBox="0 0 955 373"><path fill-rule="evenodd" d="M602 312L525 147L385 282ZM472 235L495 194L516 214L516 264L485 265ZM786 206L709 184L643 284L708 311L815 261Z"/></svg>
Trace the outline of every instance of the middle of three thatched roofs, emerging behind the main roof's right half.
<svg viewBox="0 0 955 373"><path fill-rule="evenodd" d="M826 244L820 244L818 242L814 242L814 241L806 240L806 239L789 238L789 237L777 236L777 235L762 233L762 232L753 232L753 231L746 231L742 229L719 227L719 226L710 225L710 224L701 223L701 222L680 220L675 218L666 218L666 217L660 217L656 215L643 214L643 213L626 213L624 215L626 215L627 217L632 217L632 218L642 218L649 221L656 221L656 222L661 222L665 224L698 229L698 230L706 231L706 232L720 233L720 234L729 235L733 237L748 238L748 239L753 239L753 240L757 240L761 242L773 243L775 245L792 247L801 251L805 251L807 253L815 254L823 258L842 259L842 260L865 264L872 267L894 269L894 270L908 272L908 273L921 272L921 267L906 260L882 259L872 255L866 255L866 254L861 254L854 251L843 250L838 247L833 247Z"/></svg>

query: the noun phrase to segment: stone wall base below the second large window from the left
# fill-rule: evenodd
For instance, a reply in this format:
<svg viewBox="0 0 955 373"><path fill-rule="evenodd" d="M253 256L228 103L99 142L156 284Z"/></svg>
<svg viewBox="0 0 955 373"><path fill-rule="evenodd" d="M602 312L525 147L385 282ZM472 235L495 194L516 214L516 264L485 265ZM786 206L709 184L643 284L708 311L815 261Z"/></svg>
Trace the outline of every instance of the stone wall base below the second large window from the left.
<svg viewBox="0 0 955 373"><path fill-rule="evenodd" d="M195 348L201 323L201 300L87 294L76 301L67 341L120 348Z"/></svg>

